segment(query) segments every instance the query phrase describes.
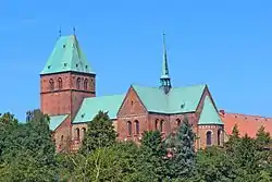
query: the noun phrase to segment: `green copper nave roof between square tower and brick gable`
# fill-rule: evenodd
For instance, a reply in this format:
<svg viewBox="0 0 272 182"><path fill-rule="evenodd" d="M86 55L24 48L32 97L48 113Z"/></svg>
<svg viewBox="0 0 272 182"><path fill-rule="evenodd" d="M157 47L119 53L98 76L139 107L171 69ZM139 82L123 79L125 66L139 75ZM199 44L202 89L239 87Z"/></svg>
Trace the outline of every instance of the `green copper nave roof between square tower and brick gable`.
<svg viewBox="0 0 272 182"><path fill-rule="evenodd" d="M99 110L108 111L110 119L116 119L125 95L112 95L85 98L73 123L91 121Z"/></svg>

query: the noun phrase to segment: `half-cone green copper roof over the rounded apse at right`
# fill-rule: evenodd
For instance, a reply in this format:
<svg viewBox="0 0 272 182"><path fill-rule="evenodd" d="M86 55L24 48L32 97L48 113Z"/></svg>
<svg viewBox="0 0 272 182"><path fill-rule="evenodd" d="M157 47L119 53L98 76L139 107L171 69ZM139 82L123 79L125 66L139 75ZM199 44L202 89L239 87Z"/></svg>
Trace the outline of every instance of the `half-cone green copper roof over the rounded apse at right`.
<svg viewBox="0 0 272 182"><path fill-rule="evenodd" d="M217 109L213 107L212 101L209 96L205 98L203 109L200 113L200 119L198 124L220 124L223 125Z"/></svg>

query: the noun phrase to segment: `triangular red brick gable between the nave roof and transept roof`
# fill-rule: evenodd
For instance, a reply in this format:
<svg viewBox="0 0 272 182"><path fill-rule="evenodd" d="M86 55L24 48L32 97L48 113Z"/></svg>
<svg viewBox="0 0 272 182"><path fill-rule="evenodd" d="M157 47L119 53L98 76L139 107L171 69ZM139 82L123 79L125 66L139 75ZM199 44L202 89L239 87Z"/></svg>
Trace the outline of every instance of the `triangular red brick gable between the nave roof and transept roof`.
<svg viewBox="0 0 272 182"><path fill-rule="evenodd" d="M119 110L119 116L146 113L147 110L133 87L129 87L123 104Z"/></svg>

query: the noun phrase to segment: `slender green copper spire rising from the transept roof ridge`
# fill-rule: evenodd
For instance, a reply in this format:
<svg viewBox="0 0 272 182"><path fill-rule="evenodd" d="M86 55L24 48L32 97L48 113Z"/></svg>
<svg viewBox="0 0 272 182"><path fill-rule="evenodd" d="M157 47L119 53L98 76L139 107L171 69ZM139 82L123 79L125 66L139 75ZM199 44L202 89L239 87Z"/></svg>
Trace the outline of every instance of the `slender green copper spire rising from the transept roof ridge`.
<svg viewBox="0 0 272 182"><path fill-rule="evenodd" d="M162 58L162 74L161 74L161 88L163 88L164 93L168 94L171 89L171 78L169 74L169 65L168 65L168 52L165 45L165 33L163 32L163 58Z"/></svg>

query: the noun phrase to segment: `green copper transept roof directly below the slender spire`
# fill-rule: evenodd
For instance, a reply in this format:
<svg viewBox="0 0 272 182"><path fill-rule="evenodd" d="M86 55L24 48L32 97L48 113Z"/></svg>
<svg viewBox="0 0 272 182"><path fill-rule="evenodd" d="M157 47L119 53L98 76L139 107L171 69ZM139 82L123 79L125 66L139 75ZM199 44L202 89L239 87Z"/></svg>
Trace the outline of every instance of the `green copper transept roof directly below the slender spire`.
<svg viewBox="0 0 272 182"><path fill-rule="evenodd" d="M158 87L132 87L149 112L182 113L196 111L206 85L174 87L168 94Z"/></svg>

